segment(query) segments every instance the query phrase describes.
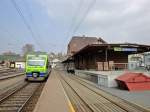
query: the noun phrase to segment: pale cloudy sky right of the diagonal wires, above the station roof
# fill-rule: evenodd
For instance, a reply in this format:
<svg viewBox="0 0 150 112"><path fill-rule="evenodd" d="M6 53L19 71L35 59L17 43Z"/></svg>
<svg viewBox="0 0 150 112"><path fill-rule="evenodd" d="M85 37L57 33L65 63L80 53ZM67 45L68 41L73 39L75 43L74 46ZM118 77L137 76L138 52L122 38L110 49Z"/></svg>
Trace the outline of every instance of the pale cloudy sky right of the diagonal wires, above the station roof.
<svg viewBox="0 0 150 112"><path fill-rule="evenodd" d="M84 32L87 35L103 36L109 42L149 44L149 5L148 0L97 2L79 34Z"/></svg>

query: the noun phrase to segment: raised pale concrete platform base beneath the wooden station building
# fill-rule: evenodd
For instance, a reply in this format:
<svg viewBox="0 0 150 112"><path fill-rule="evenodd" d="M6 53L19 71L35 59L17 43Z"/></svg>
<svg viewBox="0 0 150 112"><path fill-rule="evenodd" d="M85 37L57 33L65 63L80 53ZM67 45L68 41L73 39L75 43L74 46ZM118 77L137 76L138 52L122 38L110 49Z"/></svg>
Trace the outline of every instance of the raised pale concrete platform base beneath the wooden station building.
<svg viewBox="0 0 150 112"><path fill-rule="evenodd" d="M150 77L149 71L140 70L118 70L118 71L87 71L87 70L75 70L75 74L84 79L90 80L99 86L104 87L118 87L116 78L125 73L143 73Z"/></svg>

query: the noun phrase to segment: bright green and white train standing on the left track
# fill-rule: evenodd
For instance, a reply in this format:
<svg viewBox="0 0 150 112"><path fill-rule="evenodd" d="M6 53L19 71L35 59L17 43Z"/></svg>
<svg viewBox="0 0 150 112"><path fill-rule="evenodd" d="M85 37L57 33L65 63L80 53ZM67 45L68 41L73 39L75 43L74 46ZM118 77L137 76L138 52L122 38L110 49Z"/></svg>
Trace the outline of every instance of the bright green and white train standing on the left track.
<svg viewBox="0 0 150 112"><path fill-rule="evenodd" d="M50 74L48 55L45 53L33 53L26 56L26 80L44 81Z"/></svg>

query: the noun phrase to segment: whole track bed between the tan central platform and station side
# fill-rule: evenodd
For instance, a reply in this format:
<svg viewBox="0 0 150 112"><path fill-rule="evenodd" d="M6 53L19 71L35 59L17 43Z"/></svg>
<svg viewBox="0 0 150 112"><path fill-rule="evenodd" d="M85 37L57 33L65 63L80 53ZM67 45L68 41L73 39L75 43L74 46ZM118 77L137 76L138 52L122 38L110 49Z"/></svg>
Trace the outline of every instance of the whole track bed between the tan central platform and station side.
<svg viewBox="0 0 150 112"><path fill-rule="evenodd" d="M60 76L76 112L150 112L143 107L99 90L77 77Z"/></svg>

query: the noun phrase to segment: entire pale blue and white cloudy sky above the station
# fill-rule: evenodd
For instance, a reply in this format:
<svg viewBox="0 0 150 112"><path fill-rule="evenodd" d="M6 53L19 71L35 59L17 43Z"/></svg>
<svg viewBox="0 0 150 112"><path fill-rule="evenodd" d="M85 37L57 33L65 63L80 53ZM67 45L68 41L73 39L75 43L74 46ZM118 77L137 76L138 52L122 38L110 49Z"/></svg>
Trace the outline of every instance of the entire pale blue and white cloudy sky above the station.
<svg viewBox="0 0 150 112"><path fill-rule="evenodd" d="M1 0L0 53L21 53L26 43L36 50L65 52L73 35L150 44L149 6L150 0Z"/></svg>

